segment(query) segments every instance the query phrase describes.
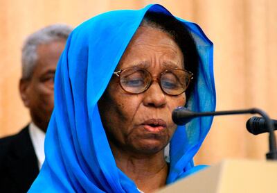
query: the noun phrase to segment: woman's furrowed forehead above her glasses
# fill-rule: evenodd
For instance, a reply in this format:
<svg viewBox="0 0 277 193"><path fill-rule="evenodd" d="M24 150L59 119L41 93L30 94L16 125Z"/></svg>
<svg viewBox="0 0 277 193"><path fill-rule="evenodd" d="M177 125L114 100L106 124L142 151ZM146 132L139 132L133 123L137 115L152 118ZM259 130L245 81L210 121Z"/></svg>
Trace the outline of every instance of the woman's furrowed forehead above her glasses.
<svg viewBox="0 0 277 193"><path fill-rule="evenodd" d="M118 68L184 68L184 58L175 40L157 28L141 26L123 53Z"/></svg>

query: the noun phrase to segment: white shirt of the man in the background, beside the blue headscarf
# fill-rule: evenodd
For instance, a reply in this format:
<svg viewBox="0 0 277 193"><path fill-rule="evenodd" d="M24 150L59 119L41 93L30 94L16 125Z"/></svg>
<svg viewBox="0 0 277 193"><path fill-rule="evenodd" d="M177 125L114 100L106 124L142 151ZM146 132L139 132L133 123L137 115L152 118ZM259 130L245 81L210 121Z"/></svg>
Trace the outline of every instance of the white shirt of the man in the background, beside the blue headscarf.
<svg viewBox="0 0 277 193"><path fill-rule="evenodd" d="M38 128L33 122L29 126L30 140L33 143L35 149L35 155L37 155L37 162L39 169L42 168L42 163L44 162L44 139L45 133Z"/></svg>

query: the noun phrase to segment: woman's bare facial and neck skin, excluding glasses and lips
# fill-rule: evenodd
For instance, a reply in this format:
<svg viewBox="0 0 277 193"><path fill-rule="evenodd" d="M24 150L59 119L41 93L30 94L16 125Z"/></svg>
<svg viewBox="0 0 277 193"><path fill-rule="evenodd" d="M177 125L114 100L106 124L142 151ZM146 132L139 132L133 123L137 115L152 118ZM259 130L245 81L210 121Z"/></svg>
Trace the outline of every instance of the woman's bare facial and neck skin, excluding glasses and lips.
<svg viewBox="0 0 277 193"><path fill-rule="evenodd" d="M155 77L168 68L184 69L184 57L170 35L142 26L129 43L117 69L138 65L147 68ZM112 76L98 101L116 165L140 190L152 192L166 184L168 165L163 149L177 128L171 119L171 112L185 103L186 94L168 95L157 81L143 93L129 94L120 87L117 76ZM143 123L150 119L162 119L166 122L166 128L148 131Z"/></svg>

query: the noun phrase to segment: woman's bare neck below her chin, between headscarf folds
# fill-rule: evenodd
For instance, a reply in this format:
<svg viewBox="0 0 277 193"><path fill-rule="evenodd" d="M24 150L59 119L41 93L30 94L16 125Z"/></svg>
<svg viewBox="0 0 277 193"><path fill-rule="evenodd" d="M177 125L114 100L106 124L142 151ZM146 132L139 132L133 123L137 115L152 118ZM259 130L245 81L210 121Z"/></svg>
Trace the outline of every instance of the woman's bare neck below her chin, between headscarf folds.
<svg viewBox="0 0 277 193"><path fill-rule="evenodd" d="M168 165L163 150L152 156L130 155L114 149L116 165L134 181L139 190L153 192L166 185Z"/></svg>

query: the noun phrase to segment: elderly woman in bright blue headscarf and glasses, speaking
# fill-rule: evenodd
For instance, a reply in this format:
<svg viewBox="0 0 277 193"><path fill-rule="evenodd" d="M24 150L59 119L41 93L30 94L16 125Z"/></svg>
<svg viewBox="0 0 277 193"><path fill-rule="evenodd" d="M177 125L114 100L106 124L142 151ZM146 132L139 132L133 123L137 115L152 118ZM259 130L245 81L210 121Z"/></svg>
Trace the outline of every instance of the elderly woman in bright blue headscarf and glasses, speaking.
<svg viewBox="0 0 277 193"><path fill-rule="evenodd" d="M57 67L46 160L30 192L152 192L201 169L193 156L212 119L185 127L171 114L215 109L212 65L199 26L159 5L78 26Z"/></svg>

